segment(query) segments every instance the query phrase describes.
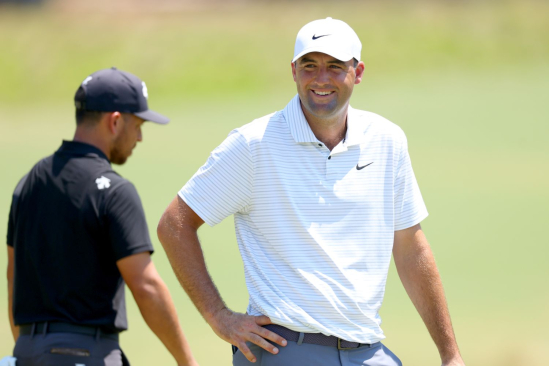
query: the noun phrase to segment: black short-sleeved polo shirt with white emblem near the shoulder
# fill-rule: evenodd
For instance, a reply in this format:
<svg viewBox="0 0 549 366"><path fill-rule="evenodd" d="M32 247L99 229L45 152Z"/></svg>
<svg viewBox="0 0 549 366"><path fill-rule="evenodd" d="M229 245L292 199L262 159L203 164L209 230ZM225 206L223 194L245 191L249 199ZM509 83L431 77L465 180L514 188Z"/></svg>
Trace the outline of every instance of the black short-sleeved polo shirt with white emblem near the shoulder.
<svg viewBox="0 0 549 366"><path fill-rule="evenodd" d="M141 200L94 146L64 141L15 189L7 244L15 252L15 324L128 327L116 262L151 252Z"/></svg>

